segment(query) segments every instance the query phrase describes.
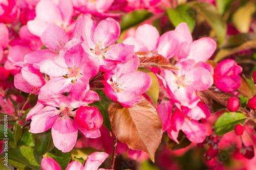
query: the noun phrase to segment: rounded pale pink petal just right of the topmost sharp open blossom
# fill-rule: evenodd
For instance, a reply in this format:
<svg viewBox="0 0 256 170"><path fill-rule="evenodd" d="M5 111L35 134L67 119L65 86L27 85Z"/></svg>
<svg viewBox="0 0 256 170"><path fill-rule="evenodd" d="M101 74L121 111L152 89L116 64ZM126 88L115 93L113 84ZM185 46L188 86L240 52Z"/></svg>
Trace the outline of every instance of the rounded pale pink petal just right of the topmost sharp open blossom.
<svg viewBox="0 0 256 170"><path fill-rule="evenodd" d="M135 38L138 41L143 42L148 51L156 49L159 33L157 29L151 25L144 24L143 26L138 27Z"/></svg>

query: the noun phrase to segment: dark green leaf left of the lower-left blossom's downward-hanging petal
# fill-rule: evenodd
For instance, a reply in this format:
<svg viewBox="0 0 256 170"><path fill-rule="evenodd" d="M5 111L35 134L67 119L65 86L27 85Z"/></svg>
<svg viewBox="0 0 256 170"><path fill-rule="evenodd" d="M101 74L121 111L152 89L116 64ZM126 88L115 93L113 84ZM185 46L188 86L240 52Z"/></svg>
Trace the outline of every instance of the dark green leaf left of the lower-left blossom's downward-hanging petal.
<svg viewBox="0 0 256 170"><path fill-rule="evenodd" d="M51 129L33 134L35 140L35 149L41 155L51 151L54 148Z"/></svg>

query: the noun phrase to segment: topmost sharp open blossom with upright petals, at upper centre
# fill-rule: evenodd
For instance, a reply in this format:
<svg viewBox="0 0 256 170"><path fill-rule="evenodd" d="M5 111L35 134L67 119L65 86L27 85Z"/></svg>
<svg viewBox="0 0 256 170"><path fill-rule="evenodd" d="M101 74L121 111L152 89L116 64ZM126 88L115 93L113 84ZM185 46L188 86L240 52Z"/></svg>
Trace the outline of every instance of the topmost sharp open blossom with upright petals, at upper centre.
<svg viewBox="0 0 256 170"><path fill-rule="evenodd" d="M110 71L117 63L126 63L134 55L134 46L115 42L119 39L120 26L113 18L101 20L96 26L84 16L81 31L83 50L100 64L100 71Z"/></svg>

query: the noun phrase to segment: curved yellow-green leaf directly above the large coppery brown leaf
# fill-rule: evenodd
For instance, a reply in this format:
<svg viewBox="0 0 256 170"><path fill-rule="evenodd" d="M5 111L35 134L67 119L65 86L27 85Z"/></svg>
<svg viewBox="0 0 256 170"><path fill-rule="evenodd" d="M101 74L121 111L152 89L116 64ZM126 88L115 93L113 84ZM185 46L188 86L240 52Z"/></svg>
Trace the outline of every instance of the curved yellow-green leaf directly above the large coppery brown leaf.
<svg viewBox="0 0 256 170"><path fill-rule="evenodd" d="M157 80L156 75L151 72L148 68L138 68L138 71L145 72L146 74L150 75L152 79L152 85L150 88L146 91L146 94L150 97L152 103L157 107L157 101L159 96L159 83Z"/></svg>

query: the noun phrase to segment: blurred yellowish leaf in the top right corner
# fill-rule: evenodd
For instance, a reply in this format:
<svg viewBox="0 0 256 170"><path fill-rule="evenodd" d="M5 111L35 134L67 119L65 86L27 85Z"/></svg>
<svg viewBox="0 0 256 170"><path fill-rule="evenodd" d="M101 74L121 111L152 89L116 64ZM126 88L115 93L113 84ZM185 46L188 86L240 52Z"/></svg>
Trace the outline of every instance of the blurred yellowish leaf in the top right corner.
<svg viewBox="0 0 256 170"><path fill-rule="evenodd" d="M240 7L232 15L234 27L240 33L248 33L250 30L252 14L255 12L256 6L254 2L248 2L245 6Z"/></svg>

